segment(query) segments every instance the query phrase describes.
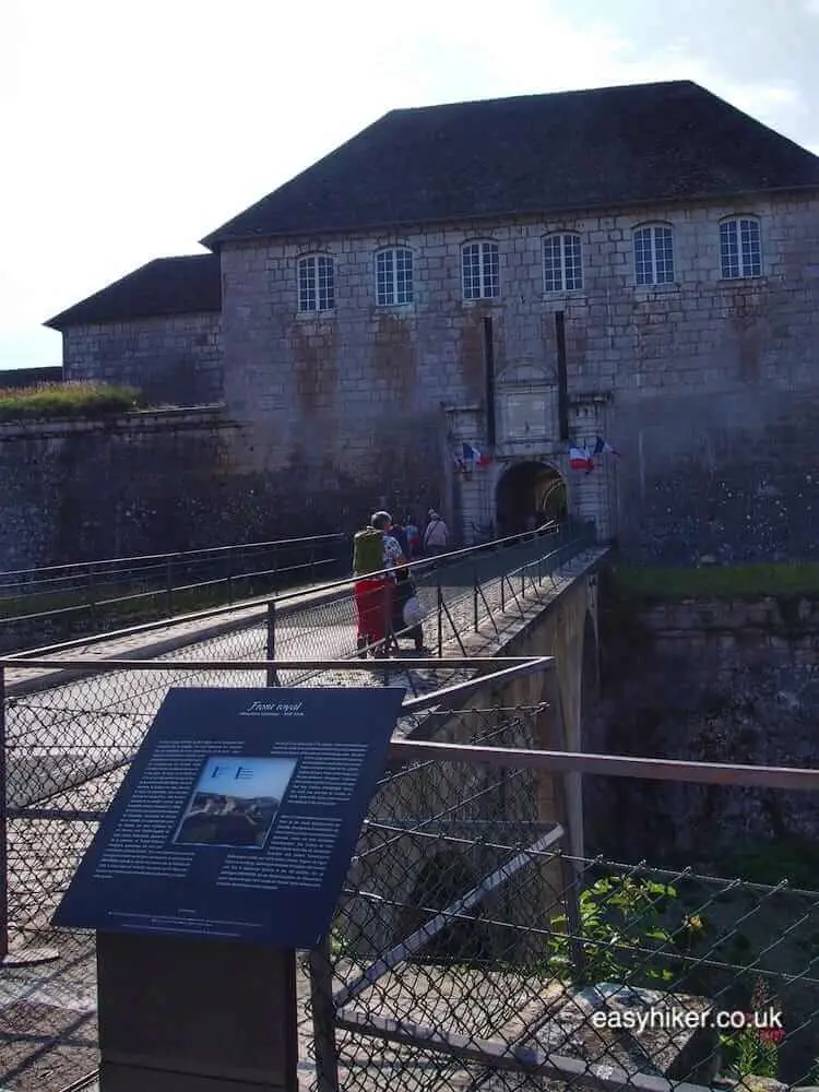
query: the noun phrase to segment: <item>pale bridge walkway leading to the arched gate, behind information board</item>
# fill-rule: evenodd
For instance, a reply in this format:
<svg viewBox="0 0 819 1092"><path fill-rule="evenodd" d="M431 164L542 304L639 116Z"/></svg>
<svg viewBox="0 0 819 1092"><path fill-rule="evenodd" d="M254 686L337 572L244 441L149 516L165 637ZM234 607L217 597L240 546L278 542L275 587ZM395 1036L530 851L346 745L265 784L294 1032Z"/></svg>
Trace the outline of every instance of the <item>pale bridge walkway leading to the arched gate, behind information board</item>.
<svg viewBox="0 0 819 1092"><path fill-rule="evenodd" d="M416 584L427 612L427 644L441 657L437 668L424 658L417 669L395 664L384 677L383 672L354 672L340 664L356 653L349 582L288 593L273 601L272 609L266 602L254 602L0 662L11 817L11 951L45 943L57 945L60 953L52 963L0 970L3 1084L15 1092L62 1092L96 1065L93 937L55 935L48 923L96 829L94 815L110 803L169 687L269 685L269 668L256 663L274 652L277 662L290 664L278 672L278 685L389 681L405 686L411 696L437 691L475 676L464 666L471 636L482 634L480 656L502 649L525 620L546 609L606 551L587 532L561 533L463 551L435 568L419 566ZM451 669L447 657L458 657ZM129 660L138 663L123 663ZM141 667L139 661L155 666ZM248 661L256 662L250 669L238 666ZM295 661L305 661L305 668L293 666ZM336 663L328 672L316 661ZM159 664L162 670L156 669ZM399 734L415 723L416 714L403 716ZM304 975L299 994L306 1001ZM306 1060L310 1035L305 1018L305 1078L312 1075Z"/></svg>

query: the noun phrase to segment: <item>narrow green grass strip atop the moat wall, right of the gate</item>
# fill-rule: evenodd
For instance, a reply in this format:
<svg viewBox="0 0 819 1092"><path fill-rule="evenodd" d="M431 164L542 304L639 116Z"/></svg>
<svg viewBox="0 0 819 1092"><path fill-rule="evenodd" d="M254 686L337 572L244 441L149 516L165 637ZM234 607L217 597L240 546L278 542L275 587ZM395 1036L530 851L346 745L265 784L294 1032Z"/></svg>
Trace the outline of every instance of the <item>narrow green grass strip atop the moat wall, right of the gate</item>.
<svg viewBox="0 0 819 1092"><path fill-rule="evenodd" d="M638 600L739 598L819 593L819 562L713 565L662 569L618 566L618 590Z"/></svg>

